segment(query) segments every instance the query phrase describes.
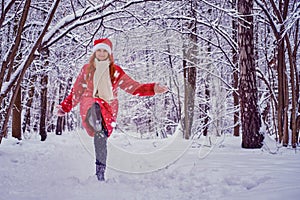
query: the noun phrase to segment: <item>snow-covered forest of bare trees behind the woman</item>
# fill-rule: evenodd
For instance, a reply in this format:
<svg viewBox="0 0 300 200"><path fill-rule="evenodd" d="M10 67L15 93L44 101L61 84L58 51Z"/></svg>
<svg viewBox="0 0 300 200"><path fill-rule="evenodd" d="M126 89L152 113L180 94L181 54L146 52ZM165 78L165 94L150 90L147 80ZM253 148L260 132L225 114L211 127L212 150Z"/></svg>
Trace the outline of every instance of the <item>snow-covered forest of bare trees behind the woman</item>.
<svg viewBox="0 0 300 200"><path fill-rule="evenodd" d="M2 0L0 142L44 141L81 127L58 105L88 62L94 39L113 41L115 62L169 92L120 92L117 129L138 138L266 134L299 144L298 0Z"/></svg>

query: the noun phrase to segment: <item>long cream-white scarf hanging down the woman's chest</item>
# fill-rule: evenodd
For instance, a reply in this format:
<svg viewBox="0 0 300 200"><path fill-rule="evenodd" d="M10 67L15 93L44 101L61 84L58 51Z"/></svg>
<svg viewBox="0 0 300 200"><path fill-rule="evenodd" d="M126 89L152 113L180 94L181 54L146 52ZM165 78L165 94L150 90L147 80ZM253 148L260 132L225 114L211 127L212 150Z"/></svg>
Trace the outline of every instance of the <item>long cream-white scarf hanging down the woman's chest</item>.
<svg viewBox="0 0 300 200"><path fill-rule="evenodd" d="M98 97L110 103L113 98L112 84L109 73L110 61L98 61L95 58L96 71L94 74L93 97Z"/></svg>

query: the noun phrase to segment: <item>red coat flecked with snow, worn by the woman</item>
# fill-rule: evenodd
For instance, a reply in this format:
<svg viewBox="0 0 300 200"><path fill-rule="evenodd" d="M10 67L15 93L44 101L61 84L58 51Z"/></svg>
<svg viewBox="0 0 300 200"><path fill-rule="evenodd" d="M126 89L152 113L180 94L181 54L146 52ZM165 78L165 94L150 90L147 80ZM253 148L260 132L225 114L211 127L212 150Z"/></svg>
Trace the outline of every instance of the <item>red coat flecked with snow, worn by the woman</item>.
<svg viewBox="0 0 300 200"><path fill-rule="evenodd" d="M123 89L132 95L138 96L153 96L155 83L140 84L130 78L121 67L115 65L116 71L114 81L112 83L114 100L109 104L103 99L93 97L93 79L86 81L88 64L84 65L78 75L71 93L62 101L61 106L63 111L70 112L73 107L80 103L80 115L82 125L90 136L94 136L93 129L86 122L86 114L88 109L97 102L100 105L105 128L108 130L108 136L111 135L118 112L118 88ZM94 76L92 72L91 77Z"/></svg>

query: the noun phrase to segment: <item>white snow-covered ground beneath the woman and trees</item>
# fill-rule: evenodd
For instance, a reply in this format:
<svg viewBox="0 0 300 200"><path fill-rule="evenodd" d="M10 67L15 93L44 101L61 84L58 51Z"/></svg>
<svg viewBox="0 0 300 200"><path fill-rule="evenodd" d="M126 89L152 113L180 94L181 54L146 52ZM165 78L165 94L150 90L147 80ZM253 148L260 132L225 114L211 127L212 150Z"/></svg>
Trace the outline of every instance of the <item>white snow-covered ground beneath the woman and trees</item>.
<svg viewBox="0 0 300 200"><path fill-rule="evenodd" d="M216 138L213 138L216 139ZM84 131L33 136L0 145L1 200L131 200L300 198L300 153L279 148L240 148L226 136L208 144L181 138L139 140L122 133L109 139L106 181L94 175L92 138ZM275 152L270 139L268 147Z"/></svg>

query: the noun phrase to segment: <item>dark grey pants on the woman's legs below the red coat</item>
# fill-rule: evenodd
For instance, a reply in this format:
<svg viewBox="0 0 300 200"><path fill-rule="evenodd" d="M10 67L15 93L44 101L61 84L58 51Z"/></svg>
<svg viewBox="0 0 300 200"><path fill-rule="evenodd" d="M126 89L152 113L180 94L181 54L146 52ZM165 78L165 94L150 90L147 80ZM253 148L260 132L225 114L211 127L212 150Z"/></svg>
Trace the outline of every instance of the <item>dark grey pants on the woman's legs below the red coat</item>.
<svg viewBox="0 0 300 200"><path fill-rule="evenodd" d="M107 159L107 130L102 124L102 115L99 104L94 103L88 110L87 120L94 129L94 145L96 155L96 165L106 166Z"/></svg>

